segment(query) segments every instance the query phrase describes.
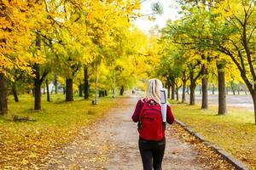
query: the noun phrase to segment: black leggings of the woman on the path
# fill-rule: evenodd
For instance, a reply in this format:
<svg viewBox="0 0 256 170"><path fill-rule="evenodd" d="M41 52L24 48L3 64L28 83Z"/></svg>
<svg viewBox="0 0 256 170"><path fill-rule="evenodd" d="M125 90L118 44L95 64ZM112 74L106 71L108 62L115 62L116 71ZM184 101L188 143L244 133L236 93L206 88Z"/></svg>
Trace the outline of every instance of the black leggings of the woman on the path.
<svg viewBox="0 0 256 170"><path fill-rule="evenodd" d="M159 142L139 139L139 149L143 160L143 170L152 170L152 158L154 170L162 169L166 139Z"/></svg>

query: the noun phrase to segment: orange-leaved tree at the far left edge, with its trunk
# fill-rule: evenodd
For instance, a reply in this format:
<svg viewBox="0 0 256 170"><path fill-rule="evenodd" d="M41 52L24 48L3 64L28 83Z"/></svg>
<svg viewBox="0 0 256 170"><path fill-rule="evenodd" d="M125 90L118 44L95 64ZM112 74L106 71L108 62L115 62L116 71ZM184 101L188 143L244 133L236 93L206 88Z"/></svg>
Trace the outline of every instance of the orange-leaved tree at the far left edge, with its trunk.
<svg viewBox="0 0 256 170"><path fill-rule="evenodd" d="M26 53L29 46L30 15L28 1L0 1L0 114L7 113L7 80L11 78L9 71L28 68L30 54Z"/></svg>

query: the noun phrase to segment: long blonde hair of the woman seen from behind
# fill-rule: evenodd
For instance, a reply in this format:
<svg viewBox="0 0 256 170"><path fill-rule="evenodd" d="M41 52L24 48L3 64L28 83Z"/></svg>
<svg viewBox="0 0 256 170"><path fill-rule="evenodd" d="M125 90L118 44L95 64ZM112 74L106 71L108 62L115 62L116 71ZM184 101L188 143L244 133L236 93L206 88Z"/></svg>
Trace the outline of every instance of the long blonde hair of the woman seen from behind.
<svg viewBox="0 0 256 170"><path fill-rule="evenodd" d="M162 82L157 78L148 80L146 99L154 99L160 104L160 89L163 88Z"/></svg>

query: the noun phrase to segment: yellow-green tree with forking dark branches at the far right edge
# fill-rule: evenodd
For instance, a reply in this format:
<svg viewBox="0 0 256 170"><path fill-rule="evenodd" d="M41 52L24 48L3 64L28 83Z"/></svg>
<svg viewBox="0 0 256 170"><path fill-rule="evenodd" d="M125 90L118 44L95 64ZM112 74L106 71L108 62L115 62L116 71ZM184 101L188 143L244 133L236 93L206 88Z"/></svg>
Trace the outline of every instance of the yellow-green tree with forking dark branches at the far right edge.
<svg viewBox="0 0 256 170"><path fill-rule="evenodd" d="M229 56L240 71L241 78L252 95L256 122L256 80L253 61L255 37L255 2L223 1L212 8L212 38L204 45Z"/></svg>

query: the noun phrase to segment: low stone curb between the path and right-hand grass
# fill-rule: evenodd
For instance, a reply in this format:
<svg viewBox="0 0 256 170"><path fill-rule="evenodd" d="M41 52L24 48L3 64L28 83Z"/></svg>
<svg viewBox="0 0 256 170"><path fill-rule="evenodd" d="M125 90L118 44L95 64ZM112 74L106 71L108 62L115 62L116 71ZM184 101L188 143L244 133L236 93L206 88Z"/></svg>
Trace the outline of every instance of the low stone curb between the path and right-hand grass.
<svg viewBox="0 0 256 170"><path fill-rule="evenodd" d="M218 153L218 155L222 156L222 158L225 161L230 162L230 164L232 164L234 167L236 167L236 169L238 169L238 170L249 170L249 168L244 163L237 160L234 156L231 156L230 153L220 149L217 145L214 145L214 144L208 142L206 139L204 139L203 136L201 136L201 134L196 133L195 131L193 131L193 129L191 127L189 127L188 125L186 125L185 123L180 122L177 119L175 120L175 122L177 122L177 124L179 126L183 127L183 129L185 129L191 135L195 136L196 139L199 139L207 147L212 148L212 150L215 150Z"/></svg>

